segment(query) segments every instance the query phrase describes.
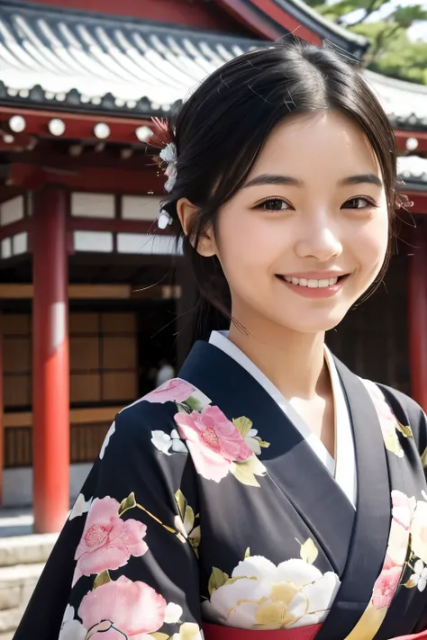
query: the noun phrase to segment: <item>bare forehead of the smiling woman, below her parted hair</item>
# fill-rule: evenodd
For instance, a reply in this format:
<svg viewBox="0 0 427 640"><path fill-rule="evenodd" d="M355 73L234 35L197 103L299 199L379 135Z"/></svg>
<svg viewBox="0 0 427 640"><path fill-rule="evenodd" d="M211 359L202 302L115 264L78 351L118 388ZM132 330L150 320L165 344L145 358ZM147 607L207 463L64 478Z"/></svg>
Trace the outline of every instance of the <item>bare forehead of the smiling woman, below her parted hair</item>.
<svg viewBox="0 0 427 640"><path fill-rule="evenodd" d="M328 111L290 117L271 132L250 176L281 173L346 177L380 168L366 134L342 113Z"/></svg>

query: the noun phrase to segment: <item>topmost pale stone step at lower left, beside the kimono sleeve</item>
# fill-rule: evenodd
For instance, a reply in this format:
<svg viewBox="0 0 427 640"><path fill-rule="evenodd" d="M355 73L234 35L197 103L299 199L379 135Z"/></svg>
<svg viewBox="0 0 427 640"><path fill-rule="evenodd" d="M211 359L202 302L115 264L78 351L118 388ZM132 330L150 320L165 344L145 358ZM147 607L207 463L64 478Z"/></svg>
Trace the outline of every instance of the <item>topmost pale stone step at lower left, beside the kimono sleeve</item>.
<svg viewBox="0 0 427 640"><path fill-rule="evenodd" d="M0 538L0 568L45 563L57 539L58 534Z"/></svg>

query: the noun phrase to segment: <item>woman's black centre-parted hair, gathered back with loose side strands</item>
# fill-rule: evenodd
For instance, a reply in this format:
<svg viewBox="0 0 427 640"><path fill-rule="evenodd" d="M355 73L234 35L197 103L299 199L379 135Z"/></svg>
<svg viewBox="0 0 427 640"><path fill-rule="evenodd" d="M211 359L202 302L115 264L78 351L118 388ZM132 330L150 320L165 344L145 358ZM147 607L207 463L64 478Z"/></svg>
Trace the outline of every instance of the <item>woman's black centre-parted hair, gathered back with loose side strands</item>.
<svg viewBox="0 0 427 640"><path fill-rule="evenodd" d="M393 234L396 203L395 135L377 97L359 71L331 48L293 37L250 50L217 69L198 86L168 122L177 147L177 177L162 201L172 229L193 265L202 300L231 318L228 284L216 257L201 257L197 243L205 229L244 184L268 135L286 116L338 110L365 131L381 167ZM197 211L184 236L177 201ZM391 242L387 251L386 269Z"/></svg>

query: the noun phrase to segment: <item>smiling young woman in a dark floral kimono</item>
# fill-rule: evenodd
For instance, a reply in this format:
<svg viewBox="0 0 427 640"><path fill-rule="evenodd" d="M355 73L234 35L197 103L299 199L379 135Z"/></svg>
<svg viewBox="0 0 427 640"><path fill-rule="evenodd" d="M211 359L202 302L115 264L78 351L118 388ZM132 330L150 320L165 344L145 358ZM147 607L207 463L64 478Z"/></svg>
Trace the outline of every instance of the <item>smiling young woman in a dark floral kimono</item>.
<svg viewBox="0 0 427 640"><path fill-rule="evenodd" d="M15 640L427 637L427 421L324 345L390 251L395 140L356 68L233 59L161 151L230 332L123 410Z"/></svg>

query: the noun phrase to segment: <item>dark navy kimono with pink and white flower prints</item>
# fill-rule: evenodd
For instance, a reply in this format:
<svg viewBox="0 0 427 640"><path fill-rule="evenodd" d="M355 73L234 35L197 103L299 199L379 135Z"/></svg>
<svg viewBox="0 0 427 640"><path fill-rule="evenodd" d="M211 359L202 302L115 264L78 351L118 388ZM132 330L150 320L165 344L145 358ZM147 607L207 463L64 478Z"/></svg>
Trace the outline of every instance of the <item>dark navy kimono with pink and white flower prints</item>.
<svg viewBox="0 0 427 640"><path fill-rule="evenodd" d="M325 360L335 459L225 336L197 342L117 415L14 640L427 637L426 417Z"/></svg>

